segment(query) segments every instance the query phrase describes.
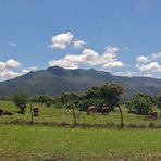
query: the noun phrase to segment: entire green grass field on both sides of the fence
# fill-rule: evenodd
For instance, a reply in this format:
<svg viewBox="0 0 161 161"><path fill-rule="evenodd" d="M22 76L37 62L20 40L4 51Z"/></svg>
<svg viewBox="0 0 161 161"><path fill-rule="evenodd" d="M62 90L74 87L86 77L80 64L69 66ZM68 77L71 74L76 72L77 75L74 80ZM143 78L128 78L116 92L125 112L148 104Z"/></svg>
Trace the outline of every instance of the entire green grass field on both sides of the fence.
<svg viewBox="0 0 161 161"><path fill-rule="evenodd" d="M145 116L128 114L123 107L126 125L123 131L119 131L116 126L107 126L108 123L119 125L117 110L107 115L87 115L76 111L77 123L94 125L92 128L44 126L36 123L72 125L73 117L64 109L41 106L40 115L34 117L35 125L32 126L23 124L30 121L29 108L25 115L15 113L17 108L11 101L0 101L0 108L14 112L12 116L0 116L0 161L161 160L161 131L145 128L157 125L160 127L160 117L146 120ZM20 125L10 124L14 121ZM96 124L104 126L97 128ZM144 128L127 128L129 125Z"/></svg>

